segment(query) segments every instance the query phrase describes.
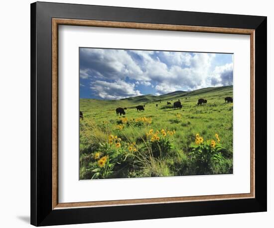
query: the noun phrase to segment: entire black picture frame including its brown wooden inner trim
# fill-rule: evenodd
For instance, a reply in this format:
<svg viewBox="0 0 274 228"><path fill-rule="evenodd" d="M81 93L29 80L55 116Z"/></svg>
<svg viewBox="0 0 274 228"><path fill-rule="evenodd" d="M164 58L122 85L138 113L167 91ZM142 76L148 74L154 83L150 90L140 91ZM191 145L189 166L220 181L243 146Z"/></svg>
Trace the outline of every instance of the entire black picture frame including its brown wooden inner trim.
<svg viewBox="0 0 274 228"><path fill-rule="evenodd" d="M75 9L76 12L71 13L67 9ZM110 14L114 11L120 13ZM165 21L159 18L165 18ZM266 23L267 18L261 16L48 2L31 4L31 224L44 226L266 211L267 150L265 142L266 118L264 118L267 112ZM39 27L42 24L46 24L45 30L41 30ZM58 203L58 25L250 35L251 192L199 197ZM46 35L46 37L42 37L42 35ZM49 47L48 41L51 41L51 47ZM43 51L47 58L42 55ZM46 66L40 65L45 60L47 61ZM257 76L259 73L260 81ZM43 88L42 85L45 85L46 88ZM256 100L261 100L261 102L255 107ZM45 107L42 108L40 105ZM257 112L255 116L256 110L260 110L260 113ZM41 122L42 119L46 121ZM260 125L260 127L256 128L256 125ZM263 140L265 146L256 146ZM44 145L45 148L42 148L41 145ZM41 178L44 179L41 180ZM42 198L42 196L46 197ZM246 205L239 207L240 204ZM213 207L215 208L212 209ZM172 212L164 213L167 208ZM189 209L191 210L189 211ZM149 210L149 212L156 210L157 213L147 215L140 210ZM104 218L99 216L100 211L112 211L114 215ZM117 211L119 214L124 214L118 216ZM135 215L129 212L135 213ZM78 213L83 214L82 220L77 217ZM70 215L70 217L66 215Z"/></svg>

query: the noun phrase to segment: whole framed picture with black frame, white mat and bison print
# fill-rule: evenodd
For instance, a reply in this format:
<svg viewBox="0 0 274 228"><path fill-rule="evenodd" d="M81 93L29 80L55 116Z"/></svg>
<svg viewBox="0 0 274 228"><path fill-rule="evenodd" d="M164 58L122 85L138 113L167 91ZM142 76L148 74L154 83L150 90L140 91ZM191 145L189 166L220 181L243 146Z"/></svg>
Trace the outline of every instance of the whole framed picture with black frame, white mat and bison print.
<svg viewBox="0 0 274 228"><path fill-rule="evenodd" d="M267 211L266 140L267 17L31 4L32 225Z"/></svg>

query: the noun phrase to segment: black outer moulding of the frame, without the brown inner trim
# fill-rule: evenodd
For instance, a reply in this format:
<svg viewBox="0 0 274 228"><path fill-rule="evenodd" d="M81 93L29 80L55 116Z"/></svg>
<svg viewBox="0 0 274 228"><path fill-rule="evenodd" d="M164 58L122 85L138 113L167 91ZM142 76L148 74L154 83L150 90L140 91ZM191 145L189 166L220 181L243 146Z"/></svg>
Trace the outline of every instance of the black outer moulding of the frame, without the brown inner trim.
<svg viewBox="0 0 274 228"><path fill-rule="evenodd" d="M255 29L255 198L52 210L52 18ZM30 19L32 225L267 211L267 17L35 2Z"/></svg>

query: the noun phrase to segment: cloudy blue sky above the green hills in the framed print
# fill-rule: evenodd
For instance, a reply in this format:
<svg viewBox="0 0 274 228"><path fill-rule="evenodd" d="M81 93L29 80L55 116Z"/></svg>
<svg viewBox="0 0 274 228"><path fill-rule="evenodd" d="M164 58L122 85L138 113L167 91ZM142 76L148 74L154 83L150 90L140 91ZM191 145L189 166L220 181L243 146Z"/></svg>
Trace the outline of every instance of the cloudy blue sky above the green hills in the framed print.
<svg viewBox="0 0 274 228"><path fill-rule="evenodd" d="M80 98L122 99L233 84L233 54L80 48Z"/></svg>

